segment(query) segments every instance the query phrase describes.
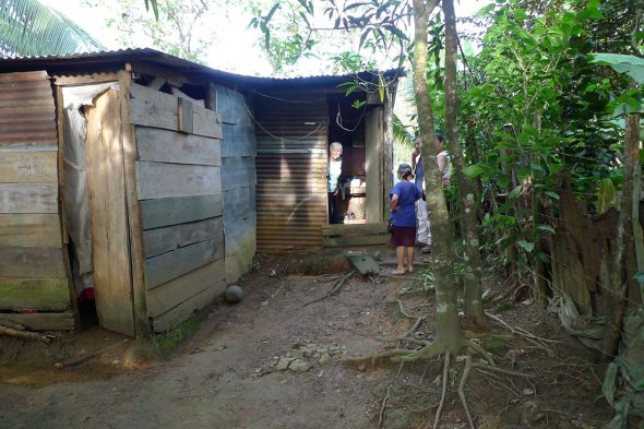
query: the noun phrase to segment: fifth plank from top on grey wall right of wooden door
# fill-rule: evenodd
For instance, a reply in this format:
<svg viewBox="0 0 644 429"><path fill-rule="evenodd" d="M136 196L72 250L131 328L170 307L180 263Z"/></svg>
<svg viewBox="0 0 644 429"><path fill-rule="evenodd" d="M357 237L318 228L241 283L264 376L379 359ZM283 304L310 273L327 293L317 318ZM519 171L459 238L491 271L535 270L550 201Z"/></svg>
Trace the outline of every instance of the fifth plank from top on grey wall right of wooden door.
<svg viewBox="0 0 644 429"><path fill-rule="evenodd" d="M145 258L155 257L186 246L214 239L223 231L224 219L212 217L190 224L172 225L143 233Z"/></svg>

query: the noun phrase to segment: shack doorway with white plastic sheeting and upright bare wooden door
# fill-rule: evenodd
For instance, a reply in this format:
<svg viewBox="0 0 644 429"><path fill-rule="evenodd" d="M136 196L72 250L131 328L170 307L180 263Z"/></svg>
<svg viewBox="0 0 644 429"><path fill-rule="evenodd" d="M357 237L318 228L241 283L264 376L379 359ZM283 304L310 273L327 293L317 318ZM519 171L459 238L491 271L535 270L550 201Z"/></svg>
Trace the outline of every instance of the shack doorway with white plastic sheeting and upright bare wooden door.
<svg viewBox="0 0 644 429"><path fill-rule="evenodd" d="M62 87L64 217L81 322L134 336L118 83ZM87 311L88 310L88 311Z"/></svg>

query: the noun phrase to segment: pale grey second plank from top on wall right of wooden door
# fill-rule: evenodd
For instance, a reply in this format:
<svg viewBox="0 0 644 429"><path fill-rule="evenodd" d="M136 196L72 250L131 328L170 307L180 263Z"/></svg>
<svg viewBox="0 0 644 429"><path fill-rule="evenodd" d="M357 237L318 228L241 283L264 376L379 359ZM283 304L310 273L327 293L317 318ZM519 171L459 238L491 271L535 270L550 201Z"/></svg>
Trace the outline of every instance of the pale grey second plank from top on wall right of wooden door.
<svg viewBox="0 0 644 429"><path fill-rule="evenodd" d="M222 165L218 140L168 130L136 127L136 152L139 160Z"/></svg>

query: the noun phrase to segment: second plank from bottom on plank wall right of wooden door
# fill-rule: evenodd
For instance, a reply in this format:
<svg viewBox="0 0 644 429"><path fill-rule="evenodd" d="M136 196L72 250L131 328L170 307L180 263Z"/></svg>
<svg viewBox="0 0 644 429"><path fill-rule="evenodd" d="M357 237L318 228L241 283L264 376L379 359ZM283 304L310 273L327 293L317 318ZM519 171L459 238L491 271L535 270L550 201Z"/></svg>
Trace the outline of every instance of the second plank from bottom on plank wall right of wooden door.
<svg viewBox="0 0 644 429"><path fill-rule="evenodd" d="M156 318L167 313L196 294L215 287L223 293L226 289L224 259L211 262L174 281L147 290L147 313Z"/></svg>

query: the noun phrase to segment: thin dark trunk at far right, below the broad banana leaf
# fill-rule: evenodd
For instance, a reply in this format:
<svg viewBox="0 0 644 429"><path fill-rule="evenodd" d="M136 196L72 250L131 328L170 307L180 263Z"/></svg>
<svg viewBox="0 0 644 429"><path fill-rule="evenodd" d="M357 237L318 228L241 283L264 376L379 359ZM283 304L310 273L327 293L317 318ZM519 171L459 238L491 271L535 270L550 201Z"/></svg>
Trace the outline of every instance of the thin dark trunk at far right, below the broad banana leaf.
<svg viewBox="0 0 644 429"><path fill-rule="evenodd" d="M627 301L628 275L627 275L627 252L634 252L633 231L632 231L632 199L635 189L633 178L637 177L640 167L639 148L640 148L640 115L629 115L627 117L627 130L624 139L624 181L622 186L621 198L618 199L619 217L617 219L617 237L615 253L610 273L610 294L612 296L611 310L607 331L604 334L601 350L611 358L617 355L621 330L623 325L623 315ZM627 230L628 228L628 230Z"/></svg>

